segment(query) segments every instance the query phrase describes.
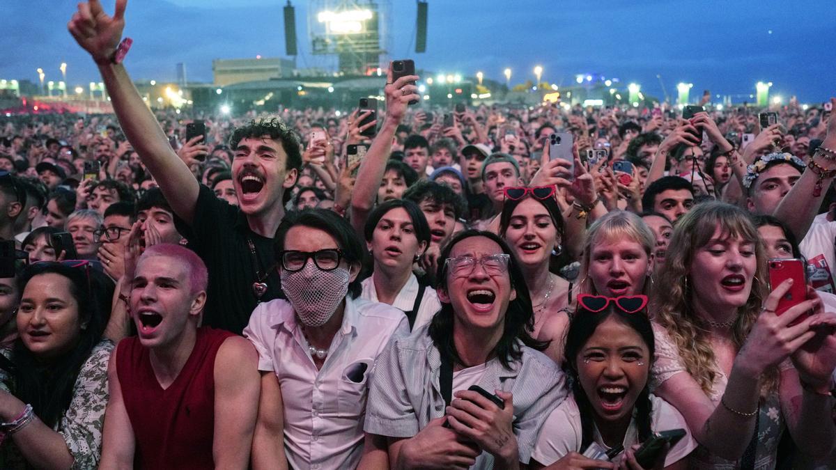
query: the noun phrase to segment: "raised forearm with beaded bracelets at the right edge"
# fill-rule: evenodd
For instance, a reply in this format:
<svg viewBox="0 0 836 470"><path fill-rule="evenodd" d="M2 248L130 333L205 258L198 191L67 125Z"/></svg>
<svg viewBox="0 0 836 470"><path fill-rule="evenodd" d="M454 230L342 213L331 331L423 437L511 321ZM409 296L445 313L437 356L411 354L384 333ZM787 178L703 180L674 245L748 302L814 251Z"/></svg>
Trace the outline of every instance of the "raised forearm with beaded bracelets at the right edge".
<svg viewBox="0 0 836 470"><path fill-rule="evenodd" d="M836 104L836 98L831 98L830 103ZM818 148L793 189L789 190L772 213L790 227L798 240L807 235L818 207L822 205L822 199L836 175L836 119L832 116L828 120L828 133Z"/></svg>

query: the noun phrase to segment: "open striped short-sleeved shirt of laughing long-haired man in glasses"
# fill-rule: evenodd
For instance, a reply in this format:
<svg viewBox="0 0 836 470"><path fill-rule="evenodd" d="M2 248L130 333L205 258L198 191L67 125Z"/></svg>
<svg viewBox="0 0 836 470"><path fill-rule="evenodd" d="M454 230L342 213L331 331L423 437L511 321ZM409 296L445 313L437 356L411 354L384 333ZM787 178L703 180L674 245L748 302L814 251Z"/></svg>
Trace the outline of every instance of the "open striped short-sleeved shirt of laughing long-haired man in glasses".
<svg viewBox="0 0 836 470"><path fill-rule="evenodd" d="M375 360L371 375L364 430L385 437L413 437L427 424L444 416L444 398L438 375L441 353L427 333L429 326L390 343ZM486 364L479 386L487 391L513 394L513 431L519 460L528 463L543 421L566 397L564 376L553 360L520 345L520 360L511 370L494 358ZM477 457L472 468L492 468L493 456Z"/></svg>

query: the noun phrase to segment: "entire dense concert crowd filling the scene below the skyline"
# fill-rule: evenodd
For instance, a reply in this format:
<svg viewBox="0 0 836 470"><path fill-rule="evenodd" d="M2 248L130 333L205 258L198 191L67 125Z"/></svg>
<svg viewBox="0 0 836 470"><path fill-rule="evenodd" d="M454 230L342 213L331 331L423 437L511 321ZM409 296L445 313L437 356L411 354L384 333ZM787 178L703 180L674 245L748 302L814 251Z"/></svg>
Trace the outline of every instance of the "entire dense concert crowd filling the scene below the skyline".
<svg viewBox="0 0 836 470"><path fill-rule="evenodd" d="M836 467L836 99L154 112L124 13L0 118L0 467Z"/></svg>

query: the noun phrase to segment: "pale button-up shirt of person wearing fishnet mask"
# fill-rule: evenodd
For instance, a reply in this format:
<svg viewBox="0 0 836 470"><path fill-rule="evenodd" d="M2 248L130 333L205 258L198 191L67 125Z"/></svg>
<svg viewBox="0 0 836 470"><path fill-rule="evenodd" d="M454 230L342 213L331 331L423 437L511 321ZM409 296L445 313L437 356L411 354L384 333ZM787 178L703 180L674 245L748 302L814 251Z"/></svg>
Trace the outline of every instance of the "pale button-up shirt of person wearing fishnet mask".
<svg viewBox="0 0 836 470"><path fill-rule="evenodd" d="M308 352L293 306L258 304L244 330L258 370L273 370L284 402L284 449L293 468L354 468L363 451L369 375L392 338L409 335L399 309L345 298L343 324L321 370Z"/></svg>

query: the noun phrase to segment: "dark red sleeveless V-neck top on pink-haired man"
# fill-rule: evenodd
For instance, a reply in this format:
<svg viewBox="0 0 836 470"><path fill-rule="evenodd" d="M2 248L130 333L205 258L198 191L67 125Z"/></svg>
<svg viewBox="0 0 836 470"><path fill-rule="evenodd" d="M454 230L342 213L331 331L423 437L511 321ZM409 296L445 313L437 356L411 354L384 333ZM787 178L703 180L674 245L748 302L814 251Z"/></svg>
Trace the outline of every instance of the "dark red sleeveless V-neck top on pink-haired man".
<svg viewBox="0 0 836 470"><path fill-rule="evenodd" d="M198 328L189 359L165 390L139 338L120 341L116 371L134 429L136 468L215 466L215 356L230 336L234 335L224 330Z"/></svg>

